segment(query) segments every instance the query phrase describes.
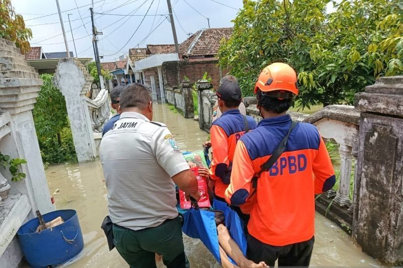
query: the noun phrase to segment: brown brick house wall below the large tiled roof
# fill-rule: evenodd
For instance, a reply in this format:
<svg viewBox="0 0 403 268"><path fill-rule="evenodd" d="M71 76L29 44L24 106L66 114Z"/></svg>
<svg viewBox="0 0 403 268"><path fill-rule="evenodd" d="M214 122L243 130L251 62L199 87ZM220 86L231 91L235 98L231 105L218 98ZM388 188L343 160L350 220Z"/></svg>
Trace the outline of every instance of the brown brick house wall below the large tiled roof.
<svg viewBox="0 0 403 268"><path fill-rule="evenodd" d="M190 81L197 81L203 77L207 71L209 77L212 77L213 88L218 88L220 79L227 74L227 70L223 70L222 76L220 68L217 66L218 60L214 61L169 61L162 64L162 72L164 75L165 86L175 86L187 76ZM178 81L179 79L179 81Z"/></svg>

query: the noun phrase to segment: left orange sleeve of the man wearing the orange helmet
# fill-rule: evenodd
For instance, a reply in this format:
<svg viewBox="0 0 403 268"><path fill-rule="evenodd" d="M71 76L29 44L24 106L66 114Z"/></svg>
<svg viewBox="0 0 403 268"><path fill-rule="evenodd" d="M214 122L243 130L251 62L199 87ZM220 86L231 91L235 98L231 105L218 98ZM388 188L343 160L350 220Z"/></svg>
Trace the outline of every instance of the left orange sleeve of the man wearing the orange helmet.
<svg viewBox="0 0 403 268"><path fill-rule="evenodd" d="M251 180L255 171L252 160L242 141L238 141L232 165L231 182L225 191L228 204L240 206L244 204L251 192Z"/></svg>

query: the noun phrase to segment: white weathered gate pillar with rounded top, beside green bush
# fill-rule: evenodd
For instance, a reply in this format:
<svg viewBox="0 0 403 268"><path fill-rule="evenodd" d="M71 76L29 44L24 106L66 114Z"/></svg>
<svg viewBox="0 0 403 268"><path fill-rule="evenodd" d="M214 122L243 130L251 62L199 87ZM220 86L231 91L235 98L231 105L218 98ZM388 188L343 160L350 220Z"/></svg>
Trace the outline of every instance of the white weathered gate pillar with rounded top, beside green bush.
<svg viewBox="0 0 403 268"><path fill-rule="evenodd" d="M92 127L98 124L98 119L91 115L88 109L86 92L93 78L87 69L75 58L60 59L57 64L53 81L66 101L72 129L74 147L79 162L92 160L96 157L96 146Z"/></svg>

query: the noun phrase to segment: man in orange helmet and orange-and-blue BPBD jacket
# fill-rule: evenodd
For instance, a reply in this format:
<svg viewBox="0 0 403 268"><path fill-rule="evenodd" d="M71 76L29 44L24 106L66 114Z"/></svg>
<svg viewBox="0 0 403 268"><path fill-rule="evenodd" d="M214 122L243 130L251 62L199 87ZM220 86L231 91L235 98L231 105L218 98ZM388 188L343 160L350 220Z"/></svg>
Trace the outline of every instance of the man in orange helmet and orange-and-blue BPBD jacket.
<svg viewBox="0 0 403 268"><path fill-rule="evenodd" d="M285 63L268 65L258 77L255 94L263 119L236 146L225 198L243 211L243 204L255 200L248 223L249 259L270 266L277 258L279 266L308 266L314 243L314 194L335 183L330 157L318 130L298 123L277 161L260 173L291 128L286 111L298 95L296 72Z"/></svg>

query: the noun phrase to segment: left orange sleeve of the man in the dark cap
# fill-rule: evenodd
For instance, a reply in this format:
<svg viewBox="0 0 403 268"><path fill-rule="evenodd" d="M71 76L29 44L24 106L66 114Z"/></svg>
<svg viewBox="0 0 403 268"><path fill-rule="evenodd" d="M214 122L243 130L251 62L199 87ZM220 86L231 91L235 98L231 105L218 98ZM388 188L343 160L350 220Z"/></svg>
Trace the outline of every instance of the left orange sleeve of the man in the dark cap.
<svg viewBox="0 0 403 268"><path fill-rule="evenodd" d="M216 125L210 128L210 136L213 154L210 177L212 180L220 180L225 176L225 171L230 163L228 160L228 137L225 131Z"/></svg>

